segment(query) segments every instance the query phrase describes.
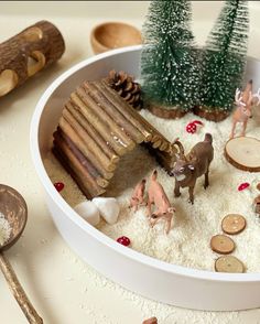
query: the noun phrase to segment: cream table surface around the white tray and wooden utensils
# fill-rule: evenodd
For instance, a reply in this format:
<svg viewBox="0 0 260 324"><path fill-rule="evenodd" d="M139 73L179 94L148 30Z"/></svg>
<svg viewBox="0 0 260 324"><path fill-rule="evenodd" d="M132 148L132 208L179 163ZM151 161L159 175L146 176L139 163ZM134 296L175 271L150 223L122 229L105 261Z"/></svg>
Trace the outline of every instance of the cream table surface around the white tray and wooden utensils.
<svg viewBox="0 0 260 324"><path fill-rule="evenodd" d="M249 2L249 55L260 58L260 3ZM67 247L46 208L29 148L34 107L44 89L61 73L93 55L89 33L94 25L117 20L141 28L148 4L145 1L0 2L0 42L43 19L53 22L66 42L66 52L58 64L0 98L0 183L15 187L29 206L24 235L7 256L44 323L138 324L153 315L159 317L160 324L260 323L260 310L238 312L230 322L228 313L164 307L119 288ZM198 44L204 43L220 6L219 1L194 3L193 26ZM26 323L1 274L0 323Z"/></svg>

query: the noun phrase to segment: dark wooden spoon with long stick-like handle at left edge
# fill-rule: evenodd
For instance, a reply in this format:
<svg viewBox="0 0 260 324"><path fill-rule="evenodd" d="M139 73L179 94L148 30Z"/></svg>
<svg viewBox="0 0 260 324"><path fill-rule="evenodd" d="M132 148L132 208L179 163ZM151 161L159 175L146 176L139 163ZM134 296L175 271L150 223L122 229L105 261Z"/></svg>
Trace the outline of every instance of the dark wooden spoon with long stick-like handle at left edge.
<svg viewBox="0 0 260 324"><path fill-rule="evenodd" d="M28 220L28 207L23 197L12 187L0 184L0 213L2 213L11 227L10 238L0 246L0 269L18 301L21 310L29 323L42 324L43 320L39 316L35 309L29 301L22 289L10 262L4 257L3 251L12 247L20 238Z"/></svg>

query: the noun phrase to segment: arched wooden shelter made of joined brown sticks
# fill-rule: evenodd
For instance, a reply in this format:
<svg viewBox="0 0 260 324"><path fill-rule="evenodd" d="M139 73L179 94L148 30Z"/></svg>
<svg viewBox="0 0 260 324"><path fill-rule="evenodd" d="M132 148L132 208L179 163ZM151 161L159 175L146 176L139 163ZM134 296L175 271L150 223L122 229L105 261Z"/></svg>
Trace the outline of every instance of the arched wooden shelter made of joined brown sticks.
<svg viewBox="0 0 260 324"><path fill-rule="evenodd" d="M105 193L119 163L144 143L170 169L176 149L106 82L85 82L66 102L53 152L88 197Z"/></svg>

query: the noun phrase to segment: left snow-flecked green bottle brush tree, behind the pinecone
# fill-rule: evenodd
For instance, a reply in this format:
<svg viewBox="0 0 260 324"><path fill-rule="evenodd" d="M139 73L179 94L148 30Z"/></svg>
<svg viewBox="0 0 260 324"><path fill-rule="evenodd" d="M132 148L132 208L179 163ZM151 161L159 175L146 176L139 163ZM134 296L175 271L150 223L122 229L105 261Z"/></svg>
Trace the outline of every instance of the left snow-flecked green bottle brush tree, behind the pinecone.
<svg viewBox="0 0 260 324"><path fill-rule="evenodd" d="M189 21L191 1L150 3L143 26L141 83L150 110L160 117L181 117L196 100L197 50Z"/></svg>

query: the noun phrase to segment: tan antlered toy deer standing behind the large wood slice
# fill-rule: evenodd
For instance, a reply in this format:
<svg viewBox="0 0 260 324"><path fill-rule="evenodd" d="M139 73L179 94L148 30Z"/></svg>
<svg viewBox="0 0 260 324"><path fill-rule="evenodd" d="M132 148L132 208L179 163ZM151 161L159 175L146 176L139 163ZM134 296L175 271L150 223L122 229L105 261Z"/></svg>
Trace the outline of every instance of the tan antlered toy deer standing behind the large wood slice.
<svg viewBox="0 0 260 324"><path fill-rule="evenodd" d="M253 99L254 97L258 98L257 104ZM242 131L240 136L243 137L246 134L248 118L252 117L252 106L254 104L257 106L260 104L260 88L257 94L252 95L252 80L249 80L242 93L239 89L236 90L235 102L238 107L232 115L232 129L230 133L231 139L235 136L238 122L242 122Z"/></svg>

